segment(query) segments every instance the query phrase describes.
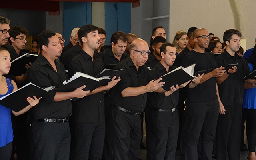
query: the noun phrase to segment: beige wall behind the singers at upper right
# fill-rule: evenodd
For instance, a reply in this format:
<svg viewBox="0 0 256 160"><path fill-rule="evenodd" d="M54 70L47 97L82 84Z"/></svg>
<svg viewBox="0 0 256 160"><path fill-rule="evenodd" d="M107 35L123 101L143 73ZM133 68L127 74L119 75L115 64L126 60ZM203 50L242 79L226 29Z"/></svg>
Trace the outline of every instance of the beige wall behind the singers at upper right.
<svg viewBox="0 0 256 160"><path fill-rule="evenodd" d="M256 37L255 0L170 0L170 40L178 30L196 26L206 28L223 41L223 32L234 28L242 32L247 49Z"/></svg>

